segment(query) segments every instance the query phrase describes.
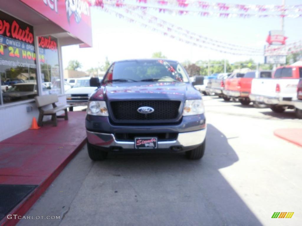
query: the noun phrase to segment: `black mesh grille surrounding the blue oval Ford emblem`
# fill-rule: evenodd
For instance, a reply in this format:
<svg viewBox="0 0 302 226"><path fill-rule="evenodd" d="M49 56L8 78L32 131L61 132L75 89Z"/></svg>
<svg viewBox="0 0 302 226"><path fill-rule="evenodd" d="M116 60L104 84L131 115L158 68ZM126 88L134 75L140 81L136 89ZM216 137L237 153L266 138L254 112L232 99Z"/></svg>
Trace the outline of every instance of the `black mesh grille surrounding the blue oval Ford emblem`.
<svg viewBox="0 0 302 226"><path fill-rule="evenodd" d="M140 107L151 107L152 113L142 114L137 111ZM115 120L176 120L180 101L172 100L131 100L111 102L111 111Z"/></svg>

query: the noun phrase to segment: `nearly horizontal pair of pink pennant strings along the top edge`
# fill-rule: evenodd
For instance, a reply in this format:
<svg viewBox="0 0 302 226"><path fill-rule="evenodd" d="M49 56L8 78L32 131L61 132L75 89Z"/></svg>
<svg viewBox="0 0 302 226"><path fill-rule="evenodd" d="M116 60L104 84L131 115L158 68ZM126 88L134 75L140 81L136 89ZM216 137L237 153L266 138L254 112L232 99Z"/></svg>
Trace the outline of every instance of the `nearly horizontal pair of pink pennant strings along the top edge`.
<svg viewBox="0 0 302 226"><path fill-rule="evenodd" d="M127 7L132 10L153 10L166 14L191 14L201 17L302 17L302 4L282 6L209 3L190 0L94 0L92 5L101 7L112 6L116 8Z"/></svg>

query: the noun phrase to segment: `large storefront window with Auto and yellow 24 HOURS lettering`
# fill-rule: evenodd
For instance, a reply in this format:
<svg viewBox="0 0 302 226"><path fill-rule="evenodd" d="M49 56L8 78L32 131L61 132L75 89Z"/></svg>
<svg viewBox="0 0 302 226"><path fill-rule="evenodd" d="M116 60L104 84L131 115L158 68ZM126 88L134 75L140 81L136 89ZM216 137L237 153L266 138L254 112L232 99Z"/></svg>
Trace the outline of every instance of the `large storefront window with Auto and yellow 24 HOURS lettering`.
<svg viewBox="0 0 302 226"><path fill-rule="evenodd" d="M1 103L37 95L37 66L33 27L0 11Z"/></svg>

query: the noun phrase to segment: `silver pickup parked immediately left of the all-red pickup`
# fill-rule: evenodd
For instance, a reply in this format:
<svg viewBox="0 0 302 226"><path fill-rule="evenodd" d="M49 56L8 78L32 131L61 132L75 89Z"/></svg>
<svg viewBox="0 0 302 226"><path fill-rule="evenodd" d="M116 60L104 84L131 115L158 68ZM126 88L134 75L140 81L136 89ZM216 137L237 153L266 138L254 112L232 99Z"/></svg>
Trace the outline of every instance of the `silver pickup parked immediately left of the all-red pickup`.
<svg viewBox="0 0 302 226"><path fill-rule="evenodd" d="M220 73L217 78L212 78L208 81L206 92L214 93L215 95L222 97L224 100L230 100L228 97L223 95L224 80L226 80L232 73Z"/></svg>

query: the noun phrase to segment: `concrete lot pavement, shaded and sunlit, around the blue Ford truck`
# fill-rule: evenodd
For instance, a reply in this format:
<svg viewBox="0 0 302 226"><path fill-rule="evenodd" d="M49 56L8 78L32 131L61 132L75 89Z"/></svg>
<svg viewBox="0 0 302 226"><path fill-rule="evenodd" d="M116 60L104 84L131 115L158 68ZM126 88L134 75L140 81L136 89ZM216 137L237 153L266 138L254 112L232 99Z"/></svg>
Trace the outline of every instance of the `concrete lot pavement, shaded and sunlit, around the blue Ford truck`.
<svg viewBox="0 0 302 226"><path fill-rule="evenodd" d="M84 147L18 225L301 225L302 148L275 137L302 128L293 110L204 97L208 131L201 161L176 154L109 155ZM302 134L301 134L302 137ZM276 218L274 212L294 212Z"/></svg>

